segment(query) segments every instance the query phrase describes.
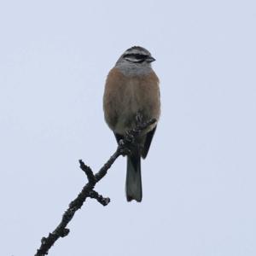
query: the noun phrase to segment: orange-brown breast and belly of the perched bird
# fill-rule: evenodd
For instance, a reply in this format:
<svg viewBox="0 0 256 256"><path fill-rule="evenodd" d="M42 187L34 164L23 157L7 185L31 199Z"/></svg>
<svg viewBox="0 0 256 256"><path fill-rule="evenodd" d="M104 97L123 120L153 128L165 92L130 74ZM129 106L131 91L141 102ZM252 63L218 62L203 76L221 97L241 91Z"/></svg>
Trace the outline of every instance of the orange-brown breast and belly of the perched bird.
<svg viewBox="0 0 256 256"><path fill-rule="evenodd" d="M118 68L113 67L108 73L105 85L103 108L109 127L119 134L134 126L138 111L143 114L145 120L159 119L158 77L154 71L145 75L126 77Z"/></svg>

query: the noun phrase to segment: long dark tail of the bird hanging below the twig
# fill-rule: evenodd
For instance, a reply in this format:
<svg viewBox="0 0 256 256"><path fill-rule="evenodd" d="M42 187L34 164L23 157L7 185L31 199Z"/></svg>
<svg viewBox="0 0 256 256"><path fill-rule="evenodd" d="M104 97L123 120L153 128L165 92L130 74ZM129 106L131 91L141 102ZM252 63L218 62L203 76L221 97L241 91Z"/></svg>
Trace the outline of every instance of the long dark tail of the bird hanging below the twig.
<svg viewBox="0 0 256 256"><path fill-rule="evenodd" d="M139 150L135 150L131 156L127 156L127 172L126 172L126 198L127 201L143 199L143 186L141 175L141 155Z"/></svg>

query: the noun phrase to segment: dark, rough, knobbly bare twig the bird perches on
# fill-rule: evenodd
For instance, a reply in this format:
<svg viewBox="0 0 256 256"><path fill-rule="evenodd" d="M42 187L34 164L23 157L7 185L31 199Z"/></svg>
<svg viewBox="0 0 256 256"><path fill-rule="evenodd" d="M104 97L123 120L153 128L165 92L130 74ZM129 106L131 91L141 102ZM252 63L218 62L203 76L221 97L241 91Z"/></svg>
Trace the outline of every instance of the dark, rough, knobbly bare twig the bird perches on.
<svg viewBox="0 0 256 256"><path fill-rule="evenodd" d="M127 131L123 140L119 142L119 146L113 155L109 158L108 162L102 166L101 170L96 174L93 174L90 166L86 166L82 160L79 160L80 168L84 171L88 178L88 183L84 185L84 188L81 190L79 195L74 199L68 206L66 212L64 212L61 223L55 228L55 230L49 233L49 236L43 237L41 239L41 246L38 249L35 256L43 256L48 254L49 248L52 247L60 237L67 236L69 230L66 228L67 224L72 220L75 212L79 210L84 204L84 201L87 197L94 198L96 201L102 204L102 206L107 206L110 202L110 199L104 198L102 195L99 195L98 192L94 190L96 183L98 183L102 177L104 177L108 169L113 165L113 162L119 157L119 155L129 154L130 149L135 142L135 138L140 135L145 129L150 125L155 123L155 119L151 119L148 122L142 122L142 116L137 113L137 125L131 131Z"/></svg>

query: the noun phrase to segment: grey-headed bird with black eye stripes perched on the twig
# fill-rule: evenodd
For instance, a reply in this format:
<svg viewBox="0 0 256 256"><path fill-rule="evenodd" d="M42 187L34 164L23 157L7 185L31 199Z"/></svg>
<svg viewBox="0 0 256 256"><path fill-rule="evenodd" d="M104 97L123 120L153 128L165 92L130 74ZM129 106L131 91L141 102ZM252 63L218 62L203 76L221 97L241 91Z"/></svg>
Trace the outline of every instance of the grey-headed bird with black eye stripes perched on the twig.
<svg viewBox="0 0 256 256"><path fill-rule="evenodd" d="M143 199L141 158L145 159L160 119L159 78L151 63L155 61L148 49L132 46L116 61L109 71L103 94L103 111L117 143L125 131L136 126L137 113L142 121L156 119L137 137L136 146L127 155L125 194L127 201Z"/></svg>

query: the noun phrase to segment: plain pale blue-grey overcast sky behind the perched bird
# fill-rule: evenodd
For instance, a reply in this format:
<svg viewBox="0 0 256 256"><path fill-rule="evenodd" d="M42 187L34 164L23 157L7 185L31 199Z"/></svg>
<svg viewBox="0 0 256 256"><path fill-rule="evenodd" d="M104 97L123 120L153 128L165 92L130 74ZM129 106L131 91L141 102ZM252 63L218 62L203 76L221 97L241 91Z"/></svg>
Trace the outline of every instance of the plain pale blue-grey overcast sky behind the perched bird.
<svg viewBox="0 0 256 256"><path fill-rule="evenodd" d="M50 256L256 255L255 1L0 3L1 255L33 255L116 148L102 113L125 49L157 60L162 114L125 200L119 158Z"/></svg>

